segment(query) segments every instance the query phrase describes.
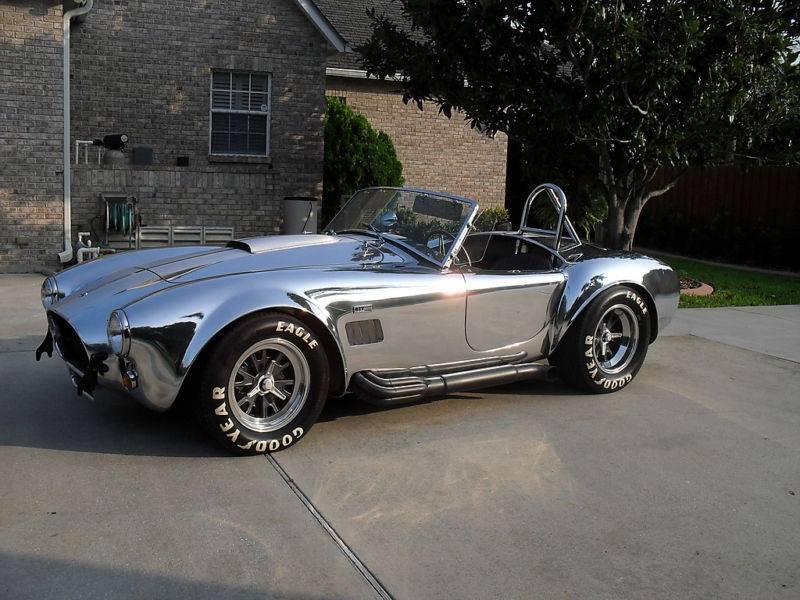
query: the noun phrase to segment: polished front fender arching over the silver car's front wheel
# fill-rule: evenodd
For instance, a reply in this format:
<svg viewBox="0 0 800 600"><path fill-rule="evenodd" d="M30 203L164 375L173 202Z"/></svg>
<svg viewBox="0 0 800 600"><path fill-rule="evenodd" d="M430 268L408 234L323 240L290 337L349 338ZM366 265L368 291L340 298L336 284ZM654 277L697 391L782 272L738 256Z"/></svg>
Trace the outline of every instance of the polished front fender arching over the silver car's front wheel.
<svg viewBox="0 0 800 600"><path fill-rule="evenodd" d="M228 275L175 285L126 306L130 357L139 371L137 391L144 397L140 399L161 410L169 408L214 336L242 317L270 309L313 315L335 340L346 370L331 316L302 292L292 291L290 279L287 272Z"/></svg>

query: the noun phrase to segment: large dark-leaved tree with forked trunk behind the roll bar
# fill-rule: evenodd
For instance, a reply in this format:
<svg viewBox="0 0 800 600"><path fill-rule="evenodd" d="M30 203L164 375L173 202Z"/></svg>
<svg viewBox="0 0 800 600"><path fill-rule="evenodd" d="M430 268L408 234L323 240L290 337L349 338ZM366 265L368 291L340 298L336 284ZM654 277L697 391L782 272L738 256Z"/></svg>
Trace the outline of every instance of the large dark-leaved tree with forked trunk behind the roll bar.
<svg viewBox="0 0 800 600"><path fill-rule="evenodd" d="M503 131L630 248L659 167L800 159L797 0L400 0L357 48L404 100ZM681 169L678 169L681 172ZM573 189L568 189L572 196Z"/></svg>

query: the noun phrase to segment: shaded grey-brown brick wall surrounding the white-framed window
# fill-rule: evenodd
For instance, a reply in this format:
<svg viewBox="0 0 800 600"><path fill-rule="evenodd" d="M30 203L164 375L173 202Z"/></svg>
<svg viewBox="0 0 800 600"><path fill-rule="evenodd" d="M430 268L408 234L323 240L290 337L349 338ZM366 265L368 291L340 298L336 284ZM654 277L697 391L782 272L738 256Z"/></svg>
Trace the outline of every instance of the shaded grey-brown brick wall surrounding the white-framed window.
<svg viewBox="0 0 800 600"><path fill-rule="evenodd" d="M101 214L103 192L137 196L148 225L237 236L276 232L284 196L321 195L327 46L290 0L96 2L72 52L73 139L126 133L155 155L147 167L76 166L75 231ZM272 74L271 160L209 157L212 69Z"/></svg>

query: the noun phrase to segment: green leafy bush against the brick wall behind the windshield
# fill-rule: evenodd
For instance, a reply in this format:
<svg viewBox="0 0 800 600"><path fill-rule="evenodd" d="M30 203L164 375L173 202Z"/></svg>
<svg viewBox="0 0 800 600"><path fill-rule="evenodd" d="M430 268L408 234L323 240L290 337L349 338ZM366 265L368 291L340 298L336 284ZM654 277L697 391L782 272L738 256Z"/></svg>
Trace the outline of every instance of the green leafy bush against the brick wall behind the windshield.
<svg viewBox="0 0 800 600"><path fill-rule="evenodd" d="M342 198L376 185L403 185L403 165L391 138L338 98L325 111L322 221L330 221Z"/></svg>

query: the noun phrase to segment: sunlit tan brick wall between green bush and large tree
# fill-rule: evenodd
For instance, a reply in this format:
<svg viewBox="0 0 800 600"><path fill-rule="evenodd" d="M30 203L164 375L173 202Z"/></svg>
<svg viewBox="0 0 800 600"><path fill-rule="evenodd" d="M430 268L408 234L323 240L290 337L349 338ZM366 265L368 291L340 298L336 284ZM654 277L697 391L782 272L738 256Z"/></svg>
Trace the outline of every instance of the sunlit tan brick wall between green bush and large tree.
<svg viewBox="0 0 800 600"><path fill-rule="evenodd" d="M452 119L440 115L432 104L422 111L403 104L387 82L328 77L326 93L345 97L348 106L391 136L406 185L475 198L484 208L504 205L508 148L504 134L491 139L457 114Z"/></svg>

